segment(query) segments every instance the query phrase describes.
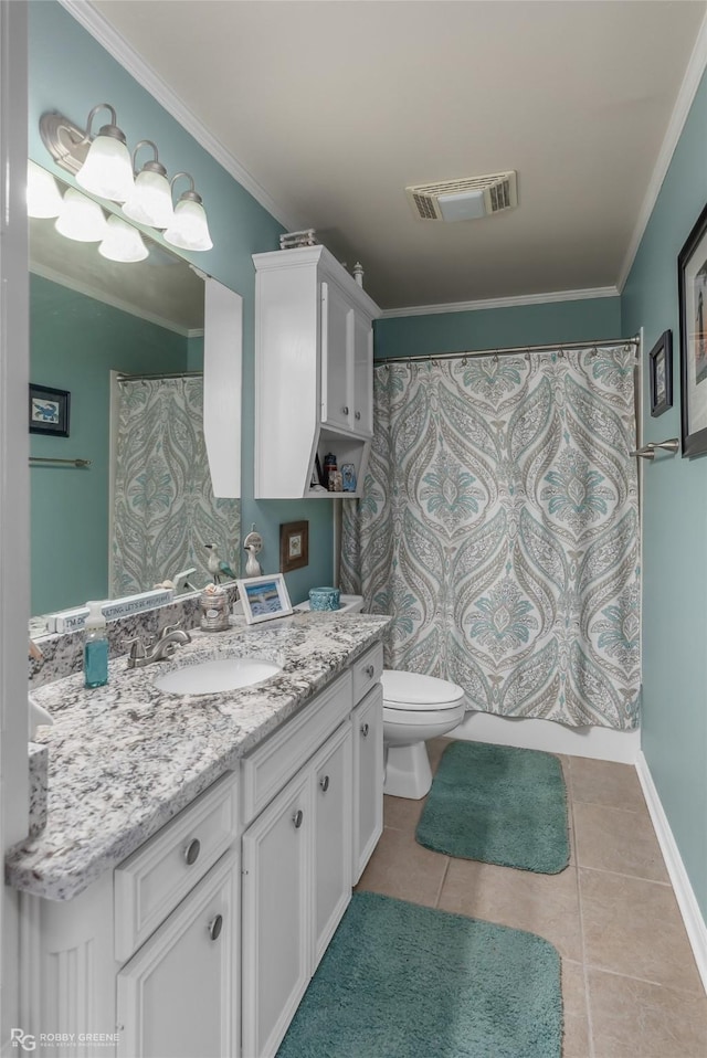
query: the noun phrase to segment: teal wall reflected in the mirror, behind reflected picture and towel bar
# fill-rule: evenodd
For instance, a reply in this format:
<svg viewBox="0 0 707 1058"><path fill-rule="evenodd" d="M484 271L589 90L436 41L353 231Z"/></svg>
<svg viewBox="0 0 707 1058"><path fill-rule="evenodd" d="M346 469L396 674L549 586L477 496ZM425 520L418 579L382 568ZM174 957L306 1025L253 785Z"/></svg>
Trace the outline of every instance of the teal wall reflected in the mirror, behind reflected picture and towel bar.
<svg viewBox="0 0 707 1058"><path fill-rule="evenodd" d="M187 339L65 286L30 276L30 380L68 390L70 435L32 434L33 456L91 467L31 470L32 613L108 593L108 466L113 371L182 371Z"/></svg>

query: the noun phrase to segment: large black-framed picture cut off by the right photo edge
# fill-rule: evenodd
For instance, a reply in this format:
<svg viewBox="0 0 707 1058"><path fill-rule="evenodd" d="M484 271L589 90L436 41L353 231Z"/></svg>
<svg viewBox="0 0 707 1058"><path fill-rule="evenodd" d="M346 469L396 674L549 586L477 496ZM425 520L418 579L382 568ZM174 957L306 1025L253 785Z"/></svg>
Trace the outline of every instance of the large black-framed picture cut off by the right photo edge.
<svg viewBox="0 0 707 1058"><path fill-rule="evenodd" d="M683 456L707 452L707 205L677 258Z"/></svg>

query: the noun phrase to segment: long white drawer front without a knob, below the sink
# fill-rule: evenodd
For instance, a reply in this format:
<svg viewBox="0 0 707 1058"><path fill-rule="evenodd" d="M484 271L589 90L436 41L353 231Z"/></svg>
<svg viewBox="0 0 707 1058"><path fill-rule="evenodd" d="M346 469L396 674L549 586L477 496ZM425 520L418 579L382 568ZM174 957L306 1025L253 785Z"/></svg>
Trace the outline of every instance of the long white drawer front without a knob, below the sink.
<svg viewBox="0 0 707 1058"><path fill-rule="evenodd" d="M243 824L263 811L351 711L351 674L323 690L263 745L241 761Z"/></svg>

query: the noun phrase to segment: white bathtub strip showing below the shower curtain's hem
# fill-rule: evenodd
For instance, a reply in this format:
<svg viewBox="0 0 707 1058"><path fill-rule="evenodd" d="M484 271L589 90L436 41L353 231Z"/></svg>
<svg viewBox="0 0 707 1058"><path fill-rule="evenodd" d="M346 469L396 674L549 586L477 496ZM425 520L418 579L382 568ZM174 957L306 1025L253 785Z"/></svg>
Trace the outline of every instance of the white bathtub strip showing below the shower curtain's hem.
<svg viewBox="0 0 707 1058"><path fill-rule="evenodd" d="M599 761L635 764L641 752L641 732L613 728L566 728L553 720L525 717L497 717L492 712L467 712L452 739L469 742L496 742L548 753L591 757Z"/></svg>

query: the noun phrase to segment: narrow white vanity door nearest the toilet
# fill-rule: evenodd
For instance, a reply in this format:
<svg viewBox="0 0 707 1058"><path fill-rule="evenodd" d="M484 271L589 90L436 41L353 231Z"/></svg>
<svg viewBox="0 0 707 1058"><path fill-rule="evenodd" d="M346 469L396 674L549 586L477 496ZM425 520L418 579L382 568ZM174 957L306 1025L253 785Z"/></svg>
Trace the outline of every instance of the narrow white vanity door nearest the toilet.
<svg viewBox="0 0 707 1058"><path fill-rule="evenodd" d="M354 885L383 830L383 689L378 684L352 713Z"/></svg>

